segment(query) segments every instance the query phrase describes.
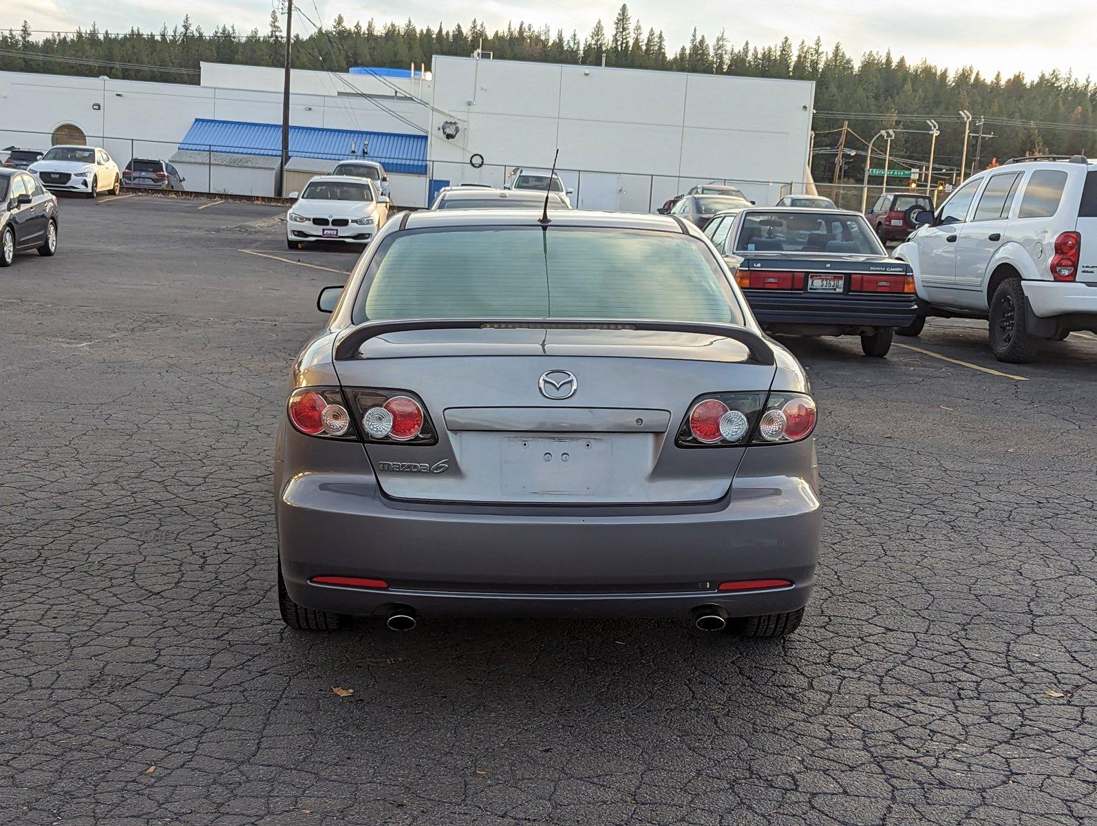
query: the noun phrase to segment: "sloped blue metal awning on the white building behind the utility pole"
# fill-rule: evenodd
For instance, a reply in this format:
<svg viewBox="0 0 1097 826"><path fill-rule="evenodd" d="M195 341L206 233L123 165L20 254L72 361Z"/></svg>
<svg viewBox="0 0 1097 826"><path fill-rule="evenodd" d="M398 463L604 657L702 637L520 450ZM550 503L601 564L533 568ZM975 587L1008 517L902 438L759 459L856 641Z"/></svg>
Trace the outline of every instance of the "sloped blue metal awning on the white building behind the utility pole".
<svg viewBox="0 0 1097 826"><path fill-rule="evenodd" d="M279 157L282 154L282 126L276 123L199 117L191 124L179 148ZM291 126L290 156L326 160L364 158L380 161L389 172L427 174L427 136Z"/></svg>

